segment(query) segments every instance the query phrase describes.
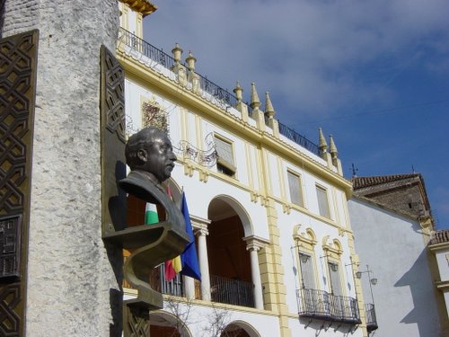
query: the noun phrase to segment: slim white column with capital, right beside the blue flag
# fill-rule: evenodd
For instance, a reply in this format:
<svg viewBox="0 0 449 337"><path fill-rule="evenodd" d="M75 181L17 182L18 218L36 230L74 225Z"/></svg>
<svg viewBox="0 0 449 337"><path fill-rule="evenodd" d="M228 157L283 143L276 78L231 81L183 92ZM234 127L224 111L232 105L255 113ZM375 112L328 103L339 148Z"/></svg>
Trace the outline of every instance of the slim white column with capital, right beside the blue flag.
<svg viewBox="0 0 449 337"><path fill-rule="evenodd" d="M209 234L207 226L210 220L200 219L190 216L192 226L195 228L195 235L198 236L198 260L199 270L201 271L201 297L205 301L210 301L210 276L209 261L207 257L206 236Z"/></svg>

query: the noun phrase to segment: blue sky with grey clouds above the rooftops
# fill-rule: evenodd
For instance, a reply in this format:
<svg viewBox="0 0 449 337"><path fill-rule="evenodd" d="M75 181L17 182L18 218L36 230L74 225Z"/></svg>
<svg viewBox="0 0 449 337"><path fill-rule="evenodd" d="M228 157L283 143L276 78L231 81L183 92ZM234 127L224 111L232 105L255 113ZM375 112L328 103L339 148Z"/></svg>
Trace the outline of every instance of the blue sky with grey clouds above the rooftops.
<svg viewBox="0 0 449 337"><path fill-rule="evenodd" d="M198 59L245 101L251 82L276 118L315 143L334 137L347 178L422 173L449 228L449 2L154 0L145 40Z"/></svg>

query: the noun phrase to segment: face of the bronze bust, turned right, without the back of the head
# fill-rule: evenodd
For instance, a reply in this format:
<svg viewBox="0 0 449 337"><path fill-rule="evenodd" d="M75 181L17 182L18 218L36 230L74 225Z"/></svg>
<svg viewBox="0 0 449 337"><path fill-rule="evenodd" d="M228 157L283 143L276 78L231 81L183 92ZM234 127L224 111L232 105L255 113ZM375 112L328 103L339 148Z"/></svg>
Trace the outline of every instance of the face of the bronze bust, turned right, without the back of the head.
<svg viewBox="0 0 449 337"><path fill-rule="evenodd" d="M172 175L176 155L173 154L172 142L163 132L154 135L154 141L139 150L137 155L145 161L142 169L153 173L159 182Z"/></svg>

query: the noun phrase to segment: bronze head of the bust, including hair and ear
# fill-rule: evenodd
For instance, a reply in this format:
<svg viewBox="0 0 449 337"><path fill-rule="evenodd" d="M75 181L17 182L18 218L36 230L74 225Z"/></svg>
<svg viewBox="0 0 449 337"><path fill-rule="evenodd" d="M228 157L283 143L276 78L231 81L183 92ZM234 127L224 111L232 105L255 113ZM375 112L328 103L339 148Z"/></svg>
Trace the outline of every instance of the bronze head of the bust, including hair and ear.
<svg viewBox="0 0 449 337"><path fill-rule="evenodd" d="M157 182L170 178L176 161L167 134L152 127L141 129L129 137L125 155L131 170L151 173Z"/></svg>

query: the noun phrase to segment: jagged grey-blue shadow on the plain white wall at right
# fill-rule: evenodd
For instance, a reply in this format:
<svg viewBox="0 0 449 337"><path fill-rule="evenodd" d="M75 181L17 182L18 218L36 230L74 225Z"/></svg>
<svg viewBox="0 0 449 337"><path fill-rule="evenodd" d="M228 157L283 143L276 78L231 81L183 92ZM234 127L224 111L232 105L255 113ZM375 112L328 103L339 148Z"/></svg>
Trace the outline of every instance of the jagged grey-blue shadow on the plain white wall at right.
<svg viewBox="0 0 449 337"><path fill-rule="evenodd" d="M411 268L394 287L409 287L413 308L401 319L404 324L417 324L420 336L440 336L441 326L434 287L427 261L427 251L419 254ZM397 303L401 306L401 303Z"/></svg>

